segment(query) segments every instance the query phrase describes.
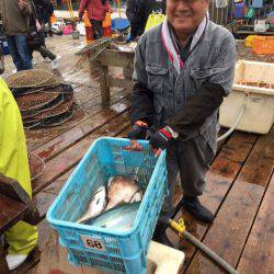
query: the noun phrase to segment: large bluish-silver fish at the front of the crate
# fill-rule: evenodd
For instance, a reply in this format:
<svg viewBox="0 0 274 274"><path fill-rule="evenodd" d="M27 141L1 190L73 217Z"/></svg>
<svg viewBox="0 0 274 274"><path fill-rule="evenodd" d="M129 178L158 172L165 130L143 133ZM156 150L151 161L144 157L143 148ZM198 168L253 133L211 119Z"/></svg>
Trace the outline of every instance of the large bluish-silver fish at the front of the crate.
<svg viewBox="0 0 274 274"><path fill-rule="evenodd" d="M90 220L87 225L126 231L133 227L140 202L112 208Z"/></svg>

